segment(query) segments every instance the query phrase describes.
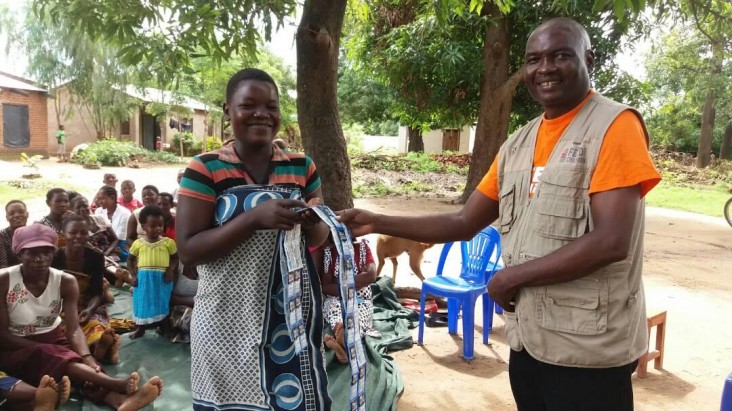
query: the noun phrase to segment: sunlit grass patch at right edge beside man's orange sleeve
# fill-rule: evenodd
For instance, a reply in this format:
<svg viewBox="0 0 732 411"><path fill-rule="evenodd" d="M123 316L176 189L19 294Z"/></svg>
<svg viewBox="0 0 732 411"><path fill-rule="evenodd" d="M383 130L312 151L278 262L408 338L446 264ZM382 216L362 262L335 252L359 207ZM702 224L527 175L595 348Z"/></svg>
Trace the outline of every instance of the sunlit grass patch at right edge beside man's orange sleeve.
<svg viewBox="0 0 732 411"><path fill-rule="evenodd" d="M727 186L674 185L661 181L646 195L646 204L720 217L724 203L730 198Z"/></svg>

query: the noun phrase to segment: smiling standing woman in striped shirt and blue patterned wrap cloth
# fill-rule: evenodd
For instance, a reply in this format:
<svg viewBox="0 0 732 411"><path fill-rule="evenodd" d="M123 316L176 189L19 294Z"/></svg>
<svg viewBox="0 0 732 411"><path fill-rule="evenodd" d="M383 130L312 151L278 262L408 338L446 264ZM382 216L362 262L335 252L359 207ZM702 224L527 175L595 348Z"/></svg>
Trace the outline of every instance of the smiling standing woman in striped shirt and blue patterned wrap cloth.
<svg viewBox="0 0 732 411"><path fill-rule="evenodd" d="M281 117L267 73L234 74L224 112L234 141L196 156L178 192L181 261L199 272L191 323L193 408L330 409L320 281L306 249L320 245L328 227L312 211L293 210L319 202L320 179L310 158L272 143ZM284 237L301 258L282 258ZM285 261L298 267L297 276L283 276ZM297 311L285 304L289 291L299 295ZM302 321L294 340L286 317L293 312Z"/></svg>

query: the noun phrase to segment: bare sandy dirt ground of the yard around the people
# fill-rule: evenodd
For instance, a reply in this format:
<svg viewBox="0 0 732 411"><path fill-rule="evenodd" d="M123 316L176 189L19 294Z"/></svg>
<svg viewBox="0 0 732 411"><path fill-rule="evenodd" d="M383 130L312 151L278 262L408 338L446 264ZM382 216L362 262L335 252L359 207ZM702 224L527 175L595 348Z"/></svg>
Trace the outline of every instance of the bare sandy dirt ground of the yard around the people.
<svg viewBox="0 0 732 411"><path fill-rule="evenodd" d="M180 166L85 170L45 160L41 173L54 182L87 187L92 194L105 172L120 181L132 179L138 190L156 184L175 186ZM27 172L17 162L0 162L0 180ZM139 195L139 191L137 193ZM5 203L10 198L0 198ZM388 198L357 200L376 212L400 215L455 210L446 199ZM722 207L722 204L720 204ZM31 218L47 213L43 199L29 202ZM719 408L722 382L732 371L732 228L722 219L648 208L646 211L644 281L649 314L668 312L663 370L649 367L648 377L633 378L638 410L712 410ZM370 236L375 244L374 236ZM425 254L422 271L433 275L440 247ZM451 255L453 258L454 255ZM391 273L387 263L385 271ZM397 286L419 286L408 258L399 259ZM480 308L476 310L480 312ZM495 316L490 343L481 343L482 319L476 319L475 359L460 358L462 332L450 336L445 328L426 328L425 345L393 354L402 370L405 391L400 410L513 410L508 382L503 321ZM416 340L416 329L413 335Z"/></svg>

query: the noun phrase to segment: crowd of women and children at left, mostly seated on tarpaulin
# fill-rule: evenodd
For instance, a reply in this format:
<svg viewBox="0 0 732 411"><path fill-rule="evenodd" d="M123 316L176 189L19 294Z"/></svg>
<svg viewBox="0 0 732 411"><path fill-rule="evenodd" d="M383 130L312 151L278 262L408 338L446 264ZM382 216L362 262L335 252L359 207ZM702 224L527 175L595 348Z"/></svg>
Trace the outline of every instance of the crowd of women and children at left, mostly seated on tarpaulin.
<svg viewBox="0 0 732 411"><path fill-rule="evenodd" d="M105 185L92 210L85 197L54 188L46 196L48 215L30 225L22 201L6 204L9 226L0 231L0 296L6 301L0 304L0 406L54 409L73 386L96 403L137 410L162 392L159 377L140 384L137 372L125 378L104 372L103 364L119 362L121 342L107 313L114 301L109 283L135 286L132 338L155 324L172 341L187 342L196 273L177 263L173 197L146 186L143 202L129 201L130 181L122 192L118 198L114 186ZM120 266L125 260L129 271Z"/></svg>

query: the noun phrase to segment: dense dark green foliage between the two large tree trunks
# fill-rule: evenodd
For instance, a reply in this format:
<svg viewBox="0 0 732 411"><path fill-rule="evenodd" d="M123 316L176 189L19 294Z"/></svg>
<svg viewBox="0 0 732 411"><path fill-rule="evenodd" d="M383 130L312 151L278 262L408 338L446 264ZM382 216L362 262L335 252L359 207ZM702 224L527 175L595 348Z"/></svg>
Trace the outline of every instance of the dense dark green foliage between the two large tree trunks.
<svg viewBox="0 0 732 411"><path fill-rule="evenodd" d="M381 104L390 107L382 111L403 125L440 128L472 122L479 104L487 20L450 13L442 21L429 7L415 9L415 3L381 1L372 6L373 12L346 40L349 71L353 67L358 74L345 75L387 85L389 91L380 92ZM367 92L384 89L366 85Z"/></svg>

